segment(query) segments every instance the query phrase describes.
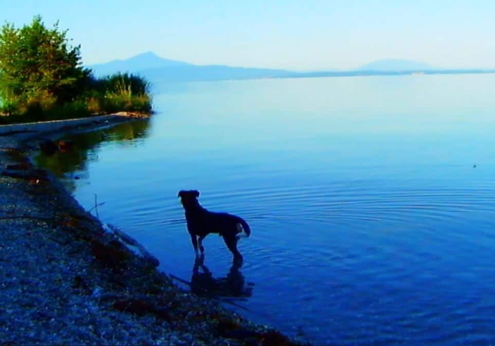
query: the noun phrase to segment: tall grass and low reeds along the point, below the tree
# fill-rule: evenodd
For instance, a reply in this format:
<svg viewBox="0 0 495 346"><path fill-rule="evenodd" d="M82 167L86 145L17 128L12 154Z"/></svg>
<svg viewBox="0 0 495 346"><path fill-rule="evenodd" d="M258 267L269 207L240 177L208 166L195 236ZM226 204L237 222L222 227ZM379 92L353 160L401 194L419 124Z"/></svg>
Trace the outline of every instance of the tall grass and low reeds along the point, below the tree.
<svg viewBox="0 0 495 346"><path fill-rule="evenodd" d="M0 104L0 124L82 118L116 112L149 113L152 110L150 88L150 83L144 78L127 73L104 78L91 77L80 97L70 102L59 104L55 96L39 93L16 104Z"/></svg>

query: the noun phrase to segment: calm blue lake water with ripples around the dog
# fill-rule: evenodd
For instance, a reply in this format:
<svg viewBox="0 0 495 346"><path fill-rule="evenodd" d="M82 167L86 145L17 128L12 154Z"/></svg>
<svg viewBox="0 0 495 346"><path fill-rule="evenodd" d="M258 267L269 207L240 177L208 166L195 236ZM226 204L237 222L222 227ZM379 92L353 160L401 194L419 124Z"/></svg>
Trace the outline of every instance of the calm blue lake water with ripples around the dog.
<svg viewBox="0 0 495 346"><path fill-rule="evenodd" d="M494 75L156 84L151 121L36 160L86 209L97 194L102 220L161 270L239 298L256 322L318 344L495 344L494 87ZM193 275L180 189L247 220L242 268L210 235L210 274Z"/></svg>

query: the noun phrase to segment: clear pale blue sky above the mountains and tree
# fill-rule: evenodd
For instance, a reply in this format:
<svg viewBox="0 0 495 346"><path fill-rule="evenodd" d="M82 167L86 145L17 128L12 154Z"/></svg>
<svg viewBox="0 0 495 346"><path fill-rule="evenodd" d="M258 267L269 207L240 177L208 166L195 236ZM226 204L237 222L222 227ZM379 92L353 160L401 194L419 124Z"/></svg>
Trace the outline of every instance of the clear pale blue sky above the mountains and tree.
<svg viewBox="0 0 495 346"><path fill-rule="evenodd" d="M153 51L167 59L293 70L380 59L495 68L493 0L1 0L0 22L57 20L85 64Z"/></svg>

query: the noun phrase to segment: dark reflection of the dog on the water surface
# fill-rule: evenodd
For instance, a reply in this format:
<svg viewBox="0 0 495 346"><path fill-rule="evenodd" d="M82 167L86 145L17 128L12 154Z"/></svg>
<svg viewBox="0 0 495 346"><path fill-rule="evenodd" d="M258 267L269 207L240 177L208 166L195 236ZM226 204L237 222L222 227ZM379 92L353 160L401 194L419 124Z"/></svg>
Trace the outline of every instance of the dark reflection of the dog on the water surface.
<svg viewBox="0 0 495 346"><path fill-rule="evenodd" d="M191 290L198 296L248 298L252 296L252 284L245 284L239 270L242 261L234 261L226 277L214 278L203 262L204 256L194 262Z"/></svg>

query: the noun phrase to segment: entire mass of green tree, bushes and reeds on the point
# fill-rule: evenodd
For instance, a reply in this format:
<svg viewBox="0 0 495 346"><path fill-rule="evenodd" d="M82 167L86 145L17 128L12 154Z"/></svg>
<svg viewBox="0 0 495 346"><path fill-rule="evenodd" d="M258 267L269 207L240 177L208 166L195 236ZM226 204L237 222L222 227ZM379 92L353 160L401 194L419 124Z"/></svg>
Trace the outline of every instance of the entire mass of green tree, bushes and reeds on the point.
<svg viewBox="0 0 495 346"><path fill-rule="evenodd" d="M150 112L150 84L132 74L95 78L81 66L58 23L40 16L0 29L0 124L80 118L121 111ZM8 115L2 116L2 115Z"/></svg>

